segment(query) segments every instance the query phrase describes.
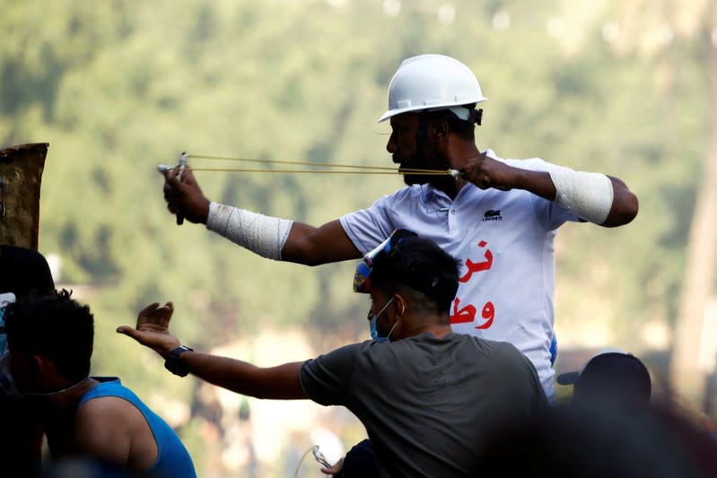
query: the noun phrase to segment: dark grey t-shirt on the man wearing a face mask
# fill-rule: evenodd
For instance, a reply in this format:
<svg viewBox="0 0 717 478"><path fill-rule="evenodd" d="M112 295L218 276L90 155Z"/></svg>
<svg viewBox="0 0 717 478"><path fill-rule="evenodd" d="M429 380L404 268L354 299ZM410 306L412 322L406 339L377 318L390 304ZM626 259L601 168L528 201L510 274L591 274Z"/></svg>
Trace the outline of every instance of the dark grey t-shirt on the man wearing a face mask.
<svg viewBox="0 0 717 478"><path fill-rule="evenodd" d="M512 344L455 333L346 345L304 362L300 380L363 422L384 476L474 475L490 430L546 405Z"/></svg>

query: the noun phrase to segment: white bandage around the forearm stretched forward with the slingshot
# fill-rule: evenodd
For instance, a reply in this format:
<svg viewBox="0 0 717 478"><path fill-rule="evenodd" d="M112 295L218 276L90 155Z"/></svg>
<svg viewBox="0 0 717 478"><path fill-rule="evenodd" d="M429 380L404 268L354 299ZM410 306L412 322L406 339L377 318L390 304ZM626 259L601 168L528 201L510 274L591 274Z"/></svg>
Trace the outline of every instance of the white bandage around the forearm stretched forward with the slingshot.
<svg viewBox="0 0 717 478"><path fill-rule="evenodd" d="M251 213L223 204L210 203L206 229L248 248L259 256L281 260L293 221Z"/></svg>

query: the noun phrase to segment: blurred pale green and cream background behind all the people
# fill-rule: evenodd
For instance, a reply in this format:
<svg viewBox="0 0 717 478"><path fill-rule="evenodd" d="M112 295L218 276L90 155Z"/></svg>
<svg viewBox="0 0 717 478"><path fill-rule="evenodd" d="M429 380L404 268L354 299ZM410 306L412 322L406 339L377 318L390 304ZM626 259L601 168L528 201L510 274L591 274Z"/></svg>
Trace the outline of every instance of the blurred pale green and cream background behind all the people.
<svg viewBox="0 0 717 478"><path fill-rule="evenodd" d="M178 227L156 165L182 151L389 165L389 129L376 120L391 75L407 56L454 56L489 98L479 147L606 172L640 198L624 228L558 234L557 368L621 347L712 413L716 15L708 0L5 0L0 147L50 144L39 249L57 284L92 306L93 373L120 376L167 418L200 476L289 476L311 445L334 461L363 427L341 409L176 378L114 330L173 300L172 329L197 350L262 365L308 359L368 337L354 264L268 261ZM218 202L315 225L402 185L197 179ZM319 465L309 456L300 474Z"/></svg>

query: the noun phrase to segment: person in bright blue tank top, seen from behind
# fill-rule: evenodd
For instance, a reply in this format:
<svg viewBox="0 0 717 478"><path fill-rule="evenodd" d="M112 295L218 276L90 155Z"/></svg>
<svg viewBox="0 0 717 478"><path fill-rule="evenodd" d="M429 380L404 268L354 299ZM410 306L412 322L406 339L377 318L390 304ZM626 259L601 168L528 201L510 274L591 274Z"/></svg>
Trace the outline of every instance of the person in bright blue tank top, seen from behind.
<svg viewBox="0 0 717 478"><path fill-rule="evenodd" d="M88 458L157 478L197 476L179 436L119 378L90 376L94 318L63 290L4 313L9 372L36 402L53 461Z"/></svg>

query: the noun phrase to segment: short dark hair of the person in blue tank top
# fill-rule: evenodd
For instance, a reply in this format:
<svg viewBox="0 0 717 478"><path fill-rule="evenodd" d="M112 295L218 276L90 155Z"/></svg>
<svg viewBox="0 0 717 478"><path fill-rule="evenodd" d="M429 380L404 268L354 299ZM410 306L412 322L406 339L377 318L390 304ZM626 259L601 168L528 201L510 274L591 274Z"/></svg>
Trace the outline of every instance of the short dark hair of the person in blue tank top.
<svg viewBox="0 0 717 478"><path fill-rule="evenodd" d="M9 304L4 321L11 352L44 355L74 382L90 374L94 317L89 306L71 299L71 293L63 289L45 296L31 294Z"/></svg>

